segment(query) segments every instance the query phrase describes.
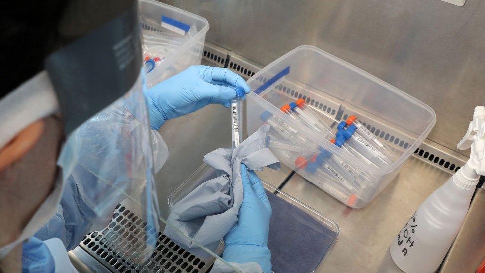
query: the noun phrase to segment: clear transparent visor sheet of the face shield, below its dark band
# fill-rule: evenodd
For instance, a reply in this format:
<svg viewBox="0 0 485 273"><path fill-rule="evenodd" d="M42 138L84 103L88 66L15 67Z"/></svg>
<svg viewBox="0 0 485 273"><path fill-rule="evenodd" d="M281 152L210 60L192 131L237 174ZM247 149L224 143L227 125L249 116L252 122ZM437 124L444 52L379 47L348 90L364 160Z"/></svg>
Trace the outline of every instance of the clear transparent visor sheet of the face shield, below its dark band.
<svg viewBox="0 0 485 273"><path fill-rule="evenodd" d="M131 203L146 224L125 255L138 253L142 260L150 256L158 237L153 174L168 155L162 138L149 126L143 75L127 94L82 123L67 139L58 160L66 183L77 186L83 214L93 223L90 231L107 226L119 203Z"/></svg>

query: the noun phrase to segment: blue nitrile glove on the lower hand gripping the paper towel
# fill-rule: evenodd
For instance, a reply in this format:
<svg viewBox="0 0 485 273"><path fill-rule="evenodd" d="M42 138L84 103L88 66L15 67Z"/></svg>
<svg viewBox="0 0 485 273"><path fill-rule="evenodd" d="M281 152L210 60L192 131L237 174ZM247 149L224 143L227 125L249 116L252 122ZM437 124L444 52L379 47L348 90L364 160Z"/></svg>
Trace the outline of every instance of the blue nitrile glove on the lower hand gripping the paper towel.
<svg viewBox="0 0 485 273"><path fill-rule="evenodd" d="M263 183L254 171L241 164L244 200L239 208L238 223L224 236L222 258L228 262L258 263L263 272L271 272L271 252L268 248L271 205Z"/></svg>

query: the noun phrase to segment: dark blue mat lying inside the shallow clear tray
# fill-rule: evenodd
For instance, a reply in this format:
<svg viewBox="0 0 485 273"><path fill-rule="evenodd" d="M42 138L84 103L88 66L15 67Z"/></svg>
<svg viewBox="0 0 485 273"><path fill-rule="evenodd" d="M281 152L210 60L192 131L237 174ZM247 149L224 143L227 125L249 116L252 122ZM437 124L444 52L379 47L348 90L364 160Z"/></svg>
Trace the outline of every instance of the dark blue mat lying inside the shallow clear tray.
<svg viewBox="0 0 485 273"><path fill-rule="evenodd" d="M313 272L338 234L274 193L266 193L273 209L268 241L272 271Z"/></svg>

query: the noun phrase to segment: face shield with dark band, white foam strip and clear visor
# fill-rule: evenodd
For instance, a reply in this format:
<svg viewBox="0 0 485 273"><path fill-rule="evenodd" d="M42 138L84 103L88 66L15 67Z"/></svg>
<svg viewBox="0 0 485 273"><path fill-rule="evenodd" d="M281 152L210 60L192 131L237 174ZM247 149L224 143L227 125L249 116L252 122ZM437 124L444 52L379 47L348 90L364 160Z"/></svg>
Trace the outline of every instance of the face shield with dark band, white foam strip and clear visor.
<svg viewBox="0 0 485 273"><path fill-rule="evenodd" d="M85 12L95 10L89 6L99 11L89 13L87 34L69 36L73 29L83 30L75 22L85 20L76 15L84 4ZM105 227L115 207L129 200L145 223L132 251L144 259L156 244L153 173L166 160L167 149L150 129L147 115L138 4L128 0L109 4L114 3L67 4L60 36L73 41L45 58L44 71L0 100L0 116L7 120L0 130L1 147L23 127L56 112L67 136L58 159L58 181L20 236L1 247L0 258L49 221L68 183L77 189L76 205L92 224L91 231Z"/></svg>

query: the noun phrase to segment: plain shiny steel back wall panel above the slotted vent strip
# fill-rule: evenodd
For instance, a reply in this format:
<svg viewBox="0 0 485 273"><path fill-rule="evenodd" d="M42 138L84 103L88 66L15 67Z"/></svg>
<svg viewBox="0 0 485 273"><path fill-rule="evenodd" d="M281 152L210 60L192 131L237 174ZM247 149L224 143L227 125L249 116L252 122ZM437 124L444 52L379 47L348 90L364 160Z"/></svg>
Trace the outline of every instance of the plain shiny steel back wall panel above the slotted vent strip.
<svg viewBox="0 0 485 273"><path fill-rule="evenodd" d="M163 2L203 16L207 41L256 63L309 44L375 75L431 106L429 139L451 150L485 101L482 0Z"/></svg>

